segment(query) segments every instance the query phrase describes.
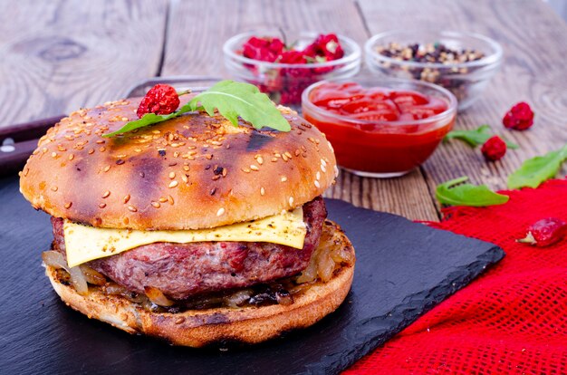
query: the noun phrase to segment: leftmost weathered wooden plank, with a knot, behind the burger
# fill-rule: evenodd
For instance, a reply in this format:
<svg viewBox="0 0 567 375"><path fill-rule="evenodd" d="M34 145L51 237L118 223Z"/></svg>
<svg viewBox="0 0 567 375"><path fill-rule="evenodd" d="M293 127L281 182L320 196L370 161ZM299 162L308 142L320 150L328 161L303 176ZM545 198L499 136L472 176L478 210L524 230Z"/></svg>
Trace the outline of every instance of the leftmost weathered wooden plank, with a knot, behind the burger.
<svg viewBox="0 0 567 375"><path fill-rule="evenodd" d="M0 126L119 99L159 70L165 1L6 0L0 8Z"/></svg>

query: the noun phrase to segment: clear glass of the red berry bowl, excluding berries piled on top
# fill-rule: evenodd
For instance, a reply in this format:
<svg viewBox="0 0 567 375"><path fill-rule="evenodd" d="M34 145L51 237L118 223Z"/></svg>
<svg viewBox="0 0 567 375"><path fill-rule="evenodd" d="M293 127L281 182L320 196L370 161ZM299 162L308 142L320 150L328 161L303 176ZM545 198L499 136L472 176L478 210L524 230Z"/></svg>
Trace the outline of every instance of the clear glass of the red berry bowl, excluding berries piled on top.
<svg viewBox="0 0 567 375"><path fill-rule="evenodd" d="M303 50L318 36L318 33L301 33L294 40L293 49ZM223 46L228 72L238 81L255 84L277 104L298 109L303 90L313 82L331 78L346 78L360 71L361 52L359 44L343 35L337 35L344 56L324 63L268 63L248 59L242 55L243 44L252 36L282 37L281 32L249 32L237 34ZM285 40L285 39L284 39Z"/></svg>

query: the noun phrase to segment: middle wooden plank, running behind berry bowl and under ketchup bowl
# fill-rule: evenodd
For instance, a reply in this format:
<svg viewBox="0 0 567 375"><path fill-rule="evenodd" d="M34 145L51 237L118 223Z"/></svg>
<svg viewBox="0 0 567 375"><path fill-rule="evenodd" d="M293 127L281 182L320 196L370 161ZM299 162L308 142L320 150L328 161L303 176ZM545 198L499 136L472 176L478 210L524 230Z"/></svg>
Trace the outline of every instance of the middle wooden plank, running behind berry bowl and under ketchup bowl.
<svg viewBox="0 0 567 375"><path fill-rule="evenodd" d="M360 45L370 36L352 1L211 0L198 7L176 2L169 13L162 73L228 77L222 53L226 39L245 31L278 27L289 34L304 30L345 34ZM412 219L437 220L436 208L419 170L388 180L358 178L341 171L337 184L327 195Z"/></svg>

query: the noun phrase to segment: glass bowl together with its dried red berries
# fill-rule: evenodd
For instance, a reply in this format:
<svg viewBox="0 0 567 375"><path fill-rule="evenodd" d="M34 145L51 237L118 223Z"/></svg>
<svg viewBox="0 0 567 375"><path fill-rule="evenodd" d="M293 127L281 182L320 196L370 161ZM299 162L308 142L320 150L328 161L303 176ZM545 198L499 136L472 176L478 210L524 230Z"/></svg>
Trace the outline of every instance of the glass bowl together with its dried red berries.
<svg viewBox="0 0 567 375"><path fill-rule="evenodd" d="M303 33L284 39L278 33L245 33L226 41L223 50L226 67L236 79L255 84L276 103L289 106L298 106L303 90L313 82L351 77L360 70L360 47L336 34Z"/></svg>

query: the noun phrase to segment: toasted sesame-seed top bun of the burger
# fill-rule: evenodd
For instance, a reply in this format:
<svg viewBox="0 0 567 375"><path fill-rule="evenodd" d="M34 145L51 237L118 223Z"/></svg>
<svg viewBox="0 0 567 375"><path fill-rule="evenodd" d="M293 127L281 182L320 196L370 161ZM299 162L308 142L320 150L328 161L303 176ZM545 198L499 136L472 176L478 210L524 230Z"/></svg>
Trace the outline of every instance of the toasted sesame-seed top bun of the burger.
<svg viewBox="0 0 567 375"><path fill-rule="evenodd" d="M24 197L91 226L199 229L300 207L336 177L330 143L285 107L290 132L188 113L101 137L137 120L139 101L75 111L48 130L21 173Z"/></svg>

